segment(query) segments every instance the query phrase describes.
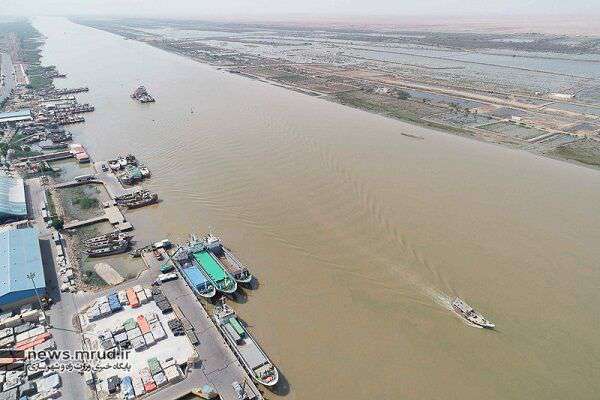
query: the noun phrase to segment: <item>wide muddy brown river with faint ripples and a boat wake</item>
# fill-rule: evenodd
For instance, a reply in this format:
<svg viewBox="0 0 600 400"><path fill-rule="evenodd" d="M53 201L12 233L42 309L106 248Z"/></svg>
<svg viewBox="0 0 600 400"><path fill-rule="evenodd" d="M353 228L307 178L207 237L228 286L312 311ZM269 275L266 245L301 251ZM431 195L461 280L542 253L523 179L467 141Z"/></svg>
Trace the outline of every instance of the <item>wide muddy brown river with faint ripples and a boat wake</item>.
<svg viewBox="0 0 600 400"><path fill-rule="evenodd" d="M234 307L285 398L600 392L598 171L34 22L43 62L68 74L57 85L90 87L80 99L96 112L76 139L153 172L163 201L128 214L136 234L212 227L258 276ZM129 98L141 83L155 104ZM449 311L456 295L498 328L464 324Z"/></svg>

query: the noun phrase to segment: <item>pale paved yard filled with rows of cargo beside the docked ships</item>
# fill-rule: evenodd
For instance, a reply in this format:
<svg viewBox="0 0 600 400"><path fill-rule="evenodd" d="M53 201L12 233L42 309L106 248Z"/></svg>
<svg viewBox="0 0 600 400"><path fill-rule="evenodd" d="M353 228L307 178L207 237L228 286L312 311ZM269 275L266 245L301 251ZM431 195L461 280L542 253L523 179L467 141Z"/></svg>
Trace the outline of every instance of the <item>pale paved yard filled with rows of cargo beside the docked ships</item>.
<svg viewBox="0 0 600 400"><path fill-rule="evenodd" d="M100 296L81 310L85 347L116 355L111 361L98 360L103 368L86 377L98 398L155 392L182 380L183 371L196 361L194 346L176 328L179 319L165 301L160 289L138 285Z"/></svg>

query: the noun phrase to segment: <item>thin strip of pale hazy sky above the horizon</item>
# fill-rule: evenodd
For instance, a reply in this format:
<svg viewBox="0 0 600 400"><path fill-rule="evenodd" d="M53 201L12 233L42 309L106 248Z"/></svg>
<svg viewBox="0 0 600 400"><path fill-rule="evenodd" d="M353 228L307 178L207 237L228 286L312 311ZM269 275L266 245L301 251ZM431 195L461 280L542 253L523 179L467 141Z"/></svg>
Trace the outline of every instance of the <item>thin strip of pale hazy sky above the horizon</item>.
<svg viewBox="0 0 600 400"><path fill-rule="evenodd" d="M0 14L188 17L600 14L600 0L0 0Z"/></svg>

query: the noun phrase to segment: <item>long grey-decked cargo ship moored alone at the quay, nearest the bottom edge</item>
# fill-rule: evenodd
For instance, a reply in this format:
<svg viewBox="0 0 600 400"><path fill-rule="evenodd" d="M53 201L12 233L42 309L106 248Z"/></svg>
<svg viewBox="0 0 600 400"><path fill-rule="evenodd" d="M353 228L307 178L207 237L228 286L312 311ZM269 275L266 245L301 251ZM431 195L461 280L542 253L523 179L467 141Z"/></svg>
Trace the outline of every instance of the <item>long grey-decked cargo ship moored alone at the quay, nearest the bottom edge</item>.
<svg viewBox="0 0 600 400"><path fill-rule="evenodd" d="M213 319L252 379L265 386L275 386L279 380L277 368L240 323L235 311L223 303L215 308Z"/></svg>

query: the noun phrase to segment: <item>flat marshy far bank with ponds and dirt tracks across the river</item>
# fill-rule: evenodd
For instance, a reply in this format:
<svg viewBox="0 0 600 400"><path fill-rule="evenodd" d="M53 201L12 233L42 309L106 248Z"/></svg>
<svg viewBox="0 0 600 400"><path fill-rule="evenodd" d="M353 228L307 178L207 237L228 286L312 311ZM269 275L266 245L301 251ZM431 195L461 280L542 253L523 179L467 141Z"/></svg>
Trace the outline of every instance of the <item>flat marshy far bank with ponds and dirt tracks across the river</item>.
<svg viewBox="0 0 600 400"><path fill-rule="evenodd" d="M211 25L198 22L198 26L204 27L205 30L200 29L204 34L194 34L191 33L194 28L192 21L161 23L145 20L79 19L76 22L244 77L396 120L594 169L600 167L600 103L593 97L582 99L558 93L561 90L568 93L573 90L577 93L589 90L593 92L593 82L598 77L594 78L592 72L591 75L575 76L568 70L551 70L551 64L547 66L549 70L531 67L526 62L509 65L509 61L514 61L508 58L504 60L504 64L500 61L486 62L486 57L506 58L498 51L490 53L489 49L477 48L468 55L457 52L453 53L453 58L436 55L436 51L448 51L445 48L432 50L433 54L424 54L426 51L420 47L415 50L410 46L400 46L393 50L394 40L406 40L402 35L395 38L393 31L388 36L375 40L363 31L354 32L350 29L349 32L353 32L356 41L362 44L359 46L348 41L349 33L327 31L327 39L323 39L306 32L296 32L294 27L286 26L273 28L263 41L252 36L260 38L263 35L260 25L253 24L230 26L224 23L221 26L217 23ZM206 32L218 27L231 30L223 34L222 42L212 40L211 35L206 36ZM187 30L188 28L190 29ZM183 38L178 37L179 30L185 32ZM248 32L248 37L245 37L245 32ZM472 35L478 37L475 33ZM290 36L299 36L305 42L299 43L301 39L292 40ZM466 36L470 37L469 34ZM361 40L365 42L362 43ZM436 36L429 40L441 39ZM460 35L456 40L459 43L460 40L465 40L468 45L473 43ZM477 40L486 42L488 39L481 36ZM548 40L551 41L551 38ZM243 46L250 43L252 47ZM270 47L269 44L275 47ZM307 44L311 46L307 47ZM489 42L488 45L493 46L494 42ZM561 47L558 43L552 46L553 51L570 54L568 46ZM331 54L331 48L337 49L335 56ZM372 57L358 56L361 52L372 53ZM476 54L481 60L476 58ZM396 62L384 57L390 55L404 58L416 56L417 59L420 57L429 60L433 65L411 64L406 60ZM520 55L525 59L531 58L532 65L536 65L537 60L555 59L571 62L573 68L577 68L578 62L600 63L595 55L583 60L565 58L565 55L558 53L556 57L537 53ZM311 61L308 62L308 59ZM438 68L436 63L454 63L458 66ZM483 70L474 75L477 79L461 76L452 78L452 74L446 73L447 69L465 69L461 63L475 65ZM499 83L498 72L494 72L496 69L502 70L501 73L519 76L514 82L508 83L500 79L502 83ZM565 77L570 78L573 84L565 84ZM542 78L547 78L548 85L556 85L552 90L556 90L558 94L540 89ZM589 90L582 89L588 86ZM531 133L537 132L537 135L522 137L518 132L524 129L529 129Z"/></svg>

